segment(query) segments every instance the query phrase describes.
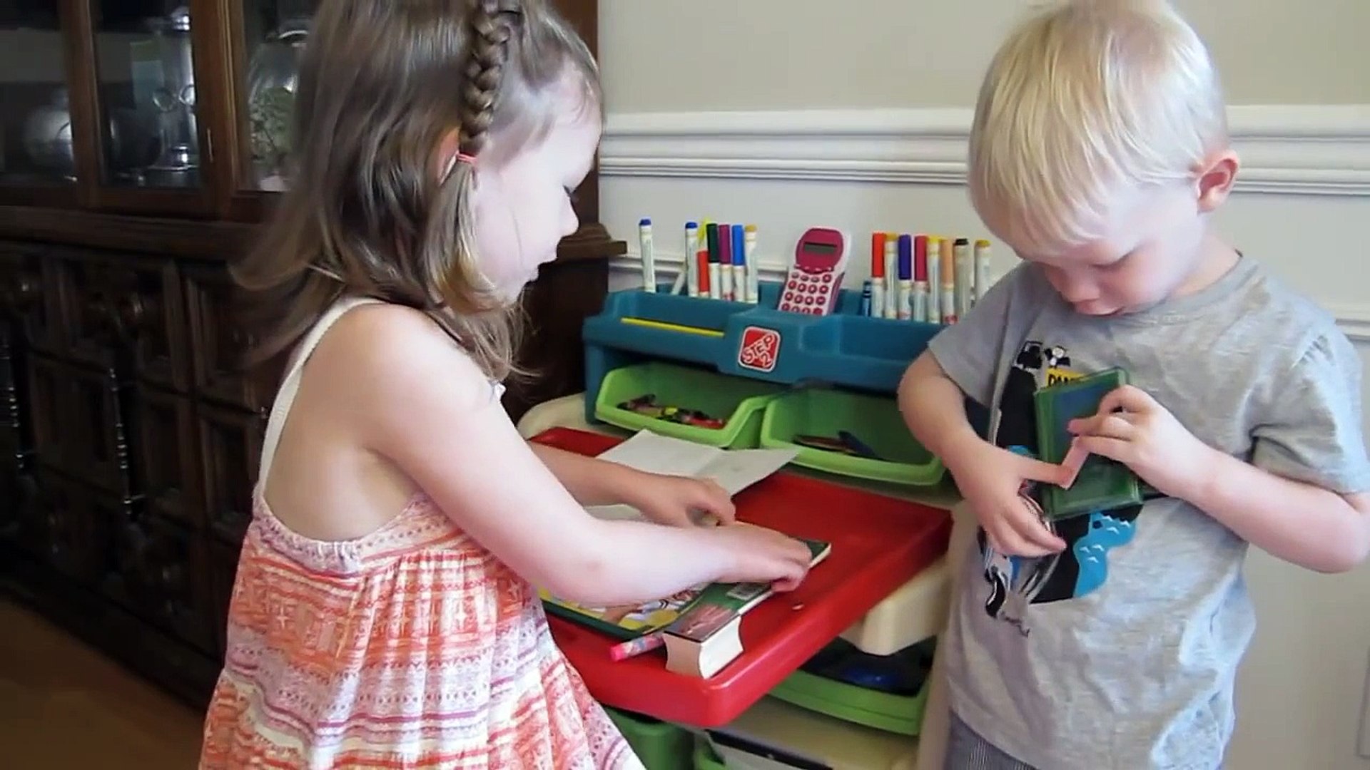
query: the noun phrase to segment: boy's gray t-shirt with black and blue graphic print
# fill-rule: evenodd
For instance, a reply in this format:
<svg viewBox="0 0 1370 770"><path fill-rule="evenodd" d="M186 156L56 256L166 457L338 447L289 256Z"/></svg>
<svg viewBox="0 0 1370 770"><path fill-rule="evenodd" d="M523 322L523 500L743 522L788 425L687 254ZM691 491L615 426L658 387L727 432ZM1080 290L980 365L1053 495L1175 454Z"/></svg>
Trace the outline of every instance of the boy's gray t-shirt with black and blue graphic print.
<svg viewBox="0 0 1370 770"><path fill-rule="evenodd" d="M1036 452L1037 388L1118 366L1211 447L1334 492L1370 489L1360 359L1251 258L1115 318L1075 314L1023 263L930 349L991 407L1000 447ZM978 533L940 644L955 712L1043 770L1219 767L1255 628L1247 543L1166 497L1055 526L1067 548L1043 559L995 554Z"/></svg>

